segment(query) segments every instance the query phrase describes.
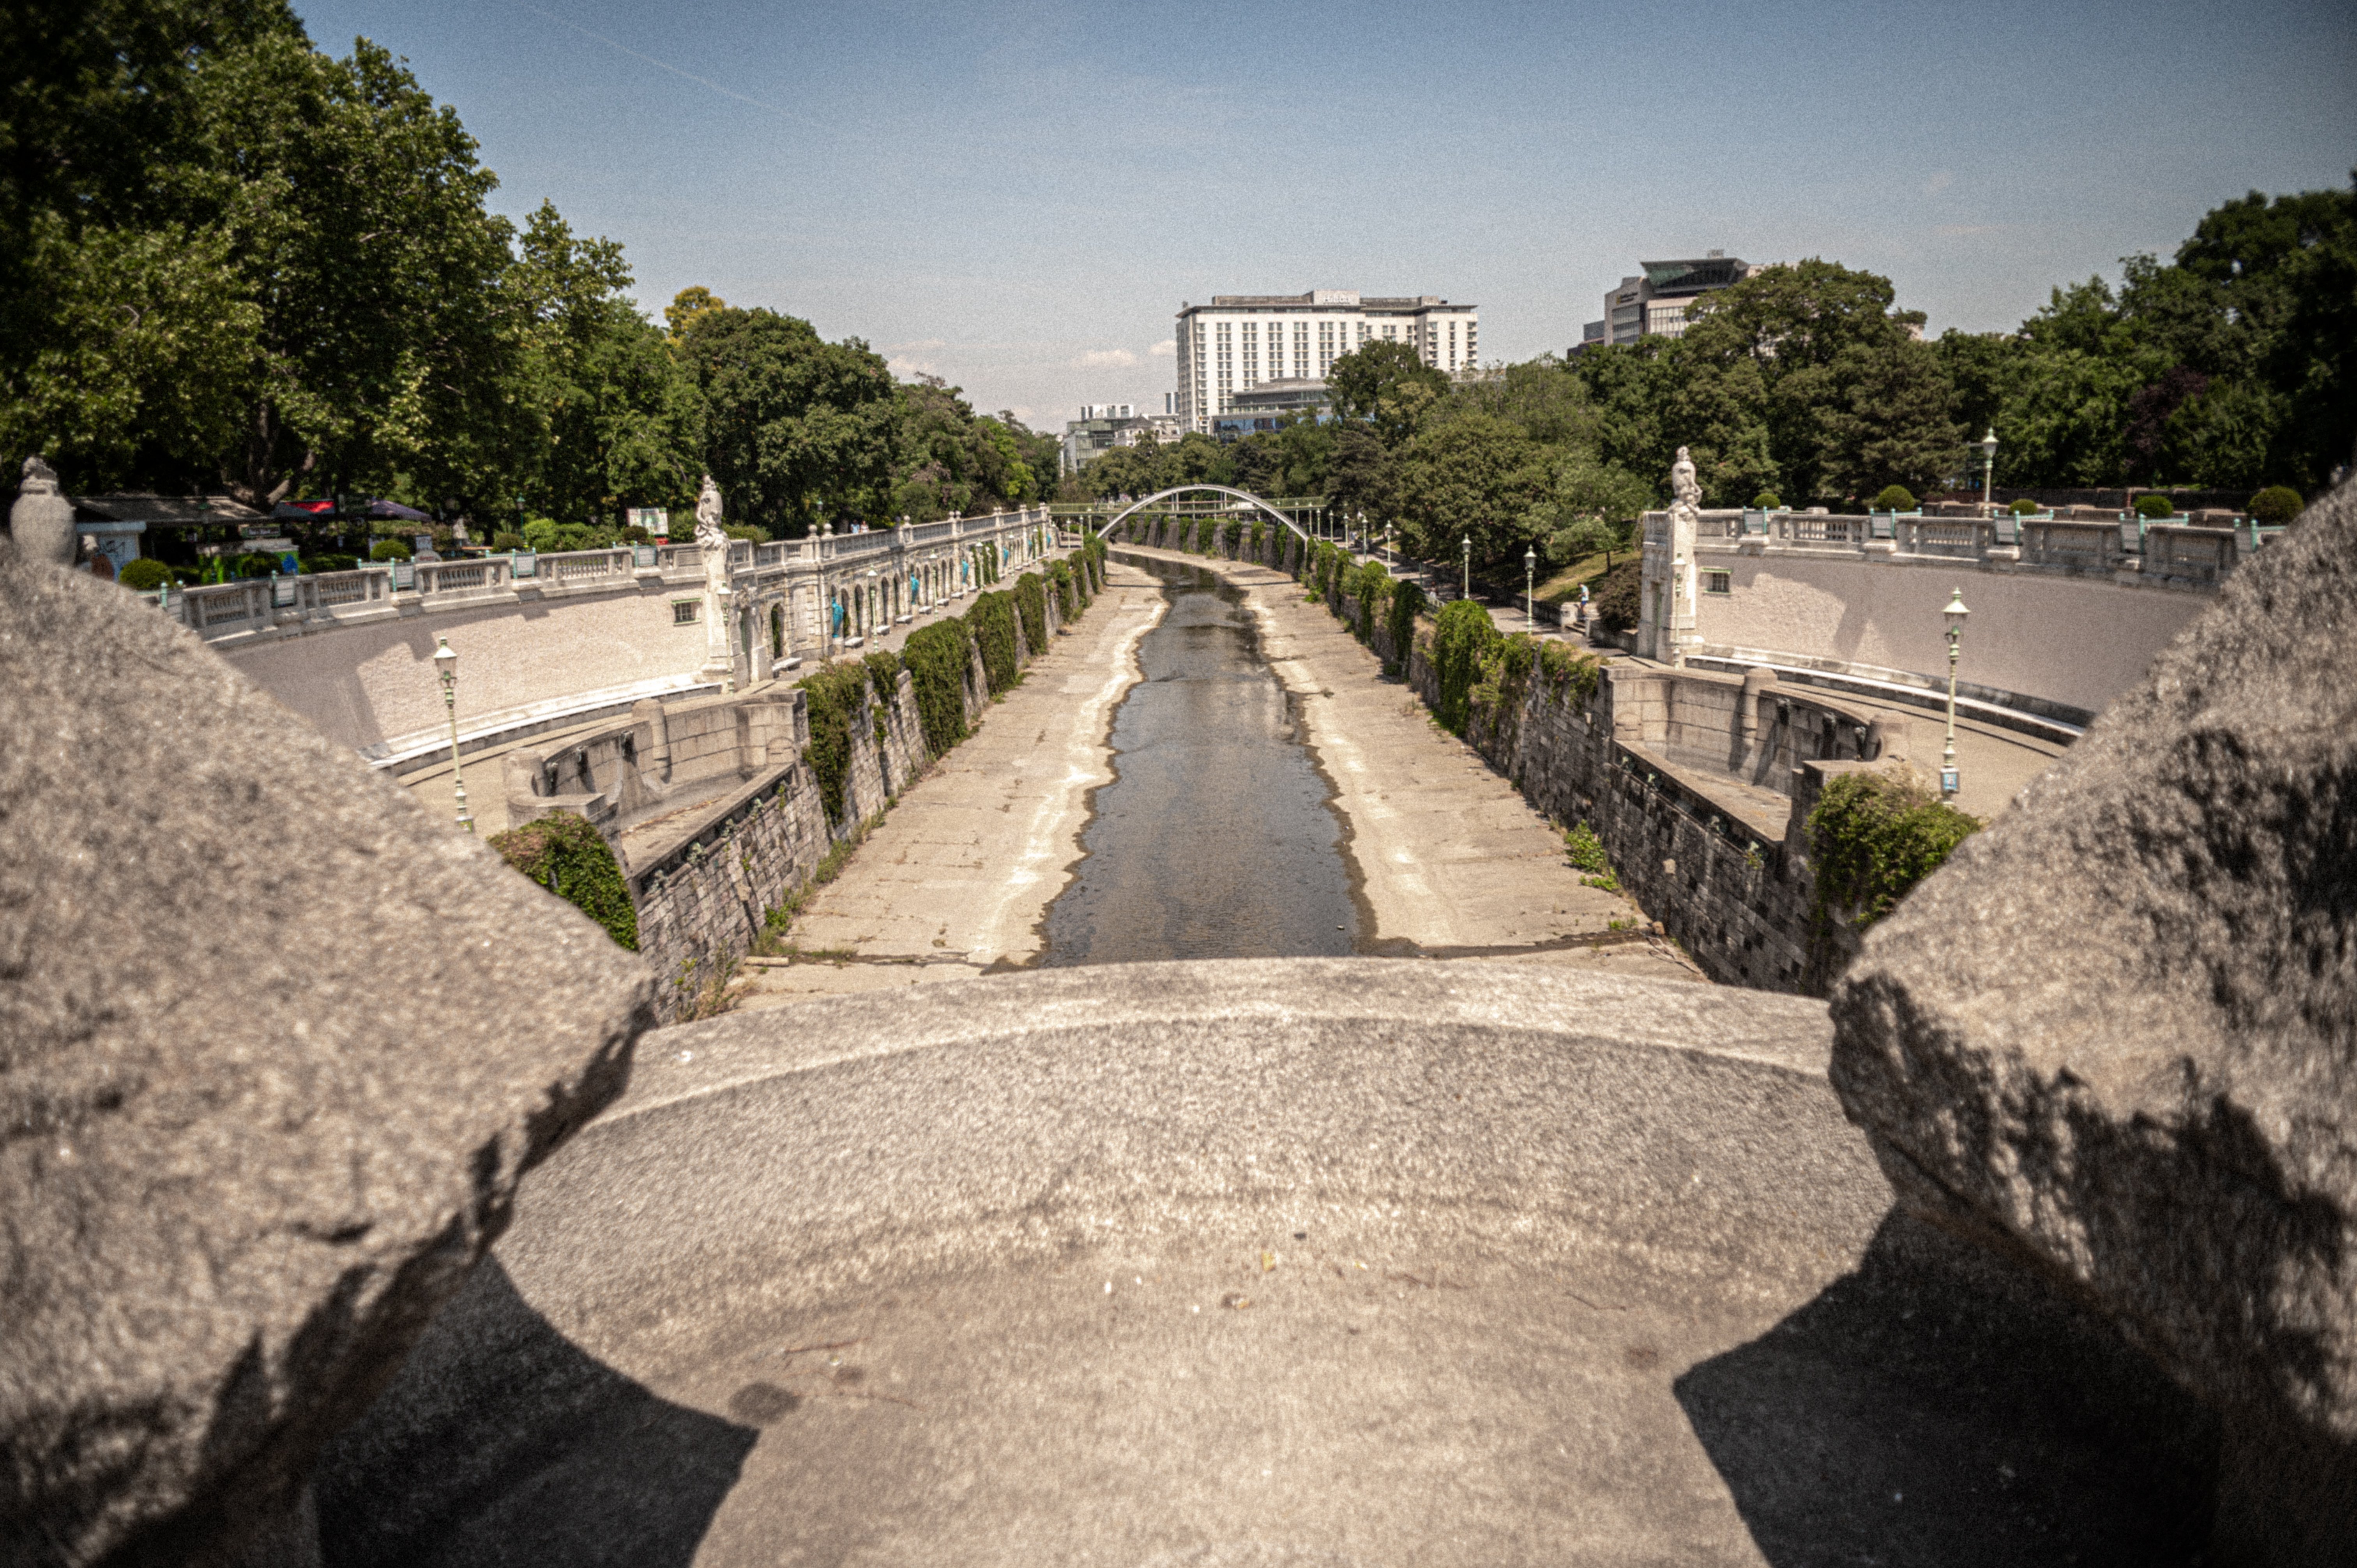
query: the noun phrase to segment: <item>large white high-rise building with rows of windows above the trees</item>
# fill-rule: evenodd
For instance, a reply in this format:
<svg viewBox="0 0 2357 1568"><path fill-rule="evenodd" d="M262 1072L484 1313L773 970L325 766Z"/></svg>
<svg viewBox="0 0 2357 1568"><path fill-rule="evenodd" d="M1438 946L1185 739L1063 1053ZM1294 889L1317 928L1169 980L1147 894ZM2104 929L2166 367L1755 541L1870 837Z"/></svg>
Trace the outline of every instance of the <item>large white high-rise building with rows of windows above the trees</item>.
<svg viewBox="0 0 2357 1568"><path fill-rule="evenodd" d="M1178 309L1181 429L1211 429L1247 387L1327 377L1334 361L1365 342L1405 342L1426 365L1464 375L1478 363L1480 318L1471 304L1440 295L1379 297L1351 288L1306 295L1211 295Z"/></svg>

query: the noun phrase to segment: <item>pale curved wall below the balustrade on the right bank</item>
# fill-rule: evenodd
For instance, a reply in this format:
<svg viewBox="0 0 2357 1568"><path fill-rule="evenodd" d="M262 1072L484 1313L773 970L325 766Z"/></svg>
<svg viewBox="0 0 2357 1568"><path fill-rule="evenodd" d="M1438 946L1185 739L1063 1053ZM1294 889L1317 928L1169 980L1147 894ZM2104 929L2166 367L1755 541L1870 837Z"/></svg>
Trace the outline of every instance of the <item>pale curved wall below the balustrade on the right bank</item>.
<svg viewBox="0 0 2357 1568"><path fill-rule="evenodd" d="M1947 674L1947 620L1959 587L1973 611L1959 677L2081 712L2100 712L2143 679L2211 594L2121 582L1992 573L1919 556L1751 556L1706 552L1730 592L1695 599L1706 648L1829 658L1869 670Z"/></svg>

